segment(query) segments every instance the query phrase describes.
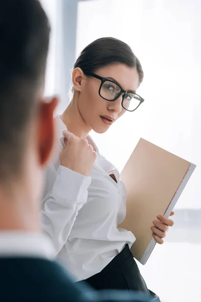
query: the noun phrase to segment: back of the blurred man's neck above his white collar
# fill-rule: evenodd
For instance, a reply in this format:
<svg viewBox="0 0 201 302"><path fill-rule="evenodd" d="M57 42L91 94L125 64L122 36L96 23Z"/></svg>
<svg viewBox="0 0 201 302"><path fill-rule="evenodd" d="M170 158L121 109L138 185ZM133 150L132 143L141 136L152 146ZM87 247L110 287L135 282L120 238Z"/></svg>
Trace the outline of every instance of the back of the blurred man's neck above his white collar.
<svg viewBox="0 0 201 302"><path fill-rule="evenodd" d="M24 186L0 186L0 232L39 233L39 202L32 202Z"/></svg>

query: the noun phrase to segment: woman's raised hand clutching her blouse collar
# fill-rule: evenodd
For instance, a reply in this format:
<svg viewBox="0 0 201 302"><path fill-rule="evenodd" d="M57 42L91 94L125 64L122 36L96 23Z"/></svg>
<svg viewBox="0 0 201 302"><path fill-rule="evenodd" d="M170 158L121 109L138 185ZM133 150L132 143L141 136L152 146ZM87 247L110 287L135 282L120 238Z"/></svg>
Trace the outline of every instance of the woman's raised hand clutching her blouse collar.
<svg viewBox="0 0 201 302"><path fill-rule="evenodd" d="M96 152L86 139L79 138L73 133L63 131L64 147L60 152L60 163L62 166L89 176L96 159Z"/></svg>

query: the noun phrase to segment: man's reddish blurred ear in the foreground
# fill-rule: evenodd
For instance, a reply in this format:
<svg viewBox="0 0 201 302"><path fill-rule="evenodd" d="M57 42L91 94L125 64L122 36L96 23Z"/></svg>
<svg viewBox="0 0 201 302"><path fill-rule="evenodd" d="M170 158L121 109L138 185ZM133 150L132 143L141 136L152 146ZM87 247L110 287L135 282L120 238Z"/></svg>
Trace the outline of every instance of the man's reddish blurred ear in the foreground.
<svg viewBox="0 0 201 302"><path fill-rule="evenodd" d="M45 166L50 160L55 142L54 110L58 104L58 98L42 100L38 108L38 148L39 161Z"/></svg>

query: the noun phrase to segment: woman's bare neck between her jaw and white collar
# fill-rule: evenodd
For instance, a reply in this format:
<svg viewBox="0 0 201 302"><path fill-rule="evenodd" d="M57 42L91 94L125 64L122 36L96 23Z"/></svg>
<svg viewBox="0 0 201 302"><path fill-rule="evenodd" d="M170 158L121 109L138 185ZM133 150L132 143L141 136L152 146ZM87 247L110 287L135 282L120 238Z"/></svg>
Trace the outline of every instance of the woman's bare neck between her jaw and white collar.
<svg viewBox="0 0 201 302"><path fill-rule="evenodd" d="M91 128L86 124L79 112L75 95L61 115L61 120L66 125L68 131L79 138L86 138L88 133L91 131Z"/></svg>

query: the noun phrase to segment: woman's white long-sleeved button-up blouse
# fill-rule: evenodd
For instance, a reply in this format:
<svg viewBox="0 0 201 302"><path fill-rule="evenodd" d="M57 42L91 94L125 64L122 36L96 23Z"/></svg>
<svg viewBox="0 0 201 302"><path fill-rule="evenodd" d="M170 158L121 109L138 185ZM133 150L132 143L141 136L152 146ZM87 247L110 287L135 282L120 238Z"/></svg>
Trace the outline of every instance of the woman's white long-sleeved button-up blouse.
<svg viewBox="0 0 201 302"><path fill-rule="evenodd" d="M47 169L43 230L53 241L57 259L79 281L102 271L126 244L134 243L135 236L117 226L126 215L126 188L117 168L99 154L89 136L97 153L90 177L61 166L66 126L60 116L55 121L59 135Z"/></svg>

